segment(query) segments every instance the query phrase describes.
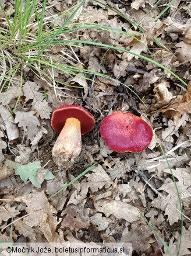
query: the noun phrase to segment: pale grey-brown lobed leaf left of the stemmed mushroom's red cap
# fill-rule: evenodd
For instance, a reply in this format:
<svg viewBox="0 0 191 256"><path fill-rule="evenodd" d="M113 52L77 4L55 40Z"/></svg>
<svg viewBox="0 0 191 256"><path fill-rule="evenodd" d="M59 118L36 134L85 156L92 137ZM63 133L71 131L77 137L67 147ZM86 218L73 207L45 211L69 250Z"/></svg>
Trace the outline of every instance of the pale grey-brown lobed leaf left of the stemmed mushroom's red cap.
<svg viewBox="0 0 191 256"><path fill-rule="evenodd" d="M36 136L38 132L38 126L40 126L40 122L38 118L34 116L34 111L24 112L24 111L16 111L15 112L15 123L19 123L19 127L23 127L23 130L27 132L27 138L29 140L33 140L34 136Z"/></svg>

